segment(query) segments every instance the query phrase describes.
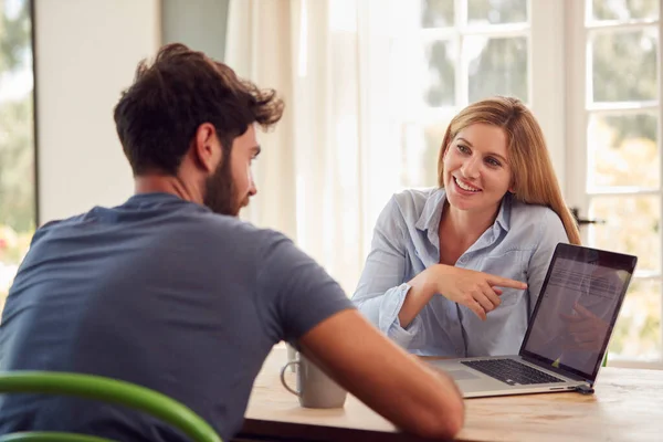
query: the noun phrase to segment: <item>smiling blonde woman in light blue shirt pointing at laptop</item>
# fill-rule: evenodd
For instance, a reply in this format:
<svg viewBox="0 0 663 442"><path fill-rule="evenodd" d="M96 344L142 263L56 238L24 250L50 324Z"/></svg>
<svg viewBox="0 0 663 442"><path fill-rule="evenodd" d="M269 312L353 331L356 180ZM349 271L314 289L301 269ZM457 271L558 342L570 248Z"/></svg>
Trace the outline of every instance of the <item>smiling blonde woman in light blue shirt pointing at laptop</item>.
<svg viewBox="0 0 663 442"><path fill-rule="evenodd" d="M555 246L580 243L529 109L494 97L461 110L438 185L388 202L352 301L412 354L516 354Z"/></svg>

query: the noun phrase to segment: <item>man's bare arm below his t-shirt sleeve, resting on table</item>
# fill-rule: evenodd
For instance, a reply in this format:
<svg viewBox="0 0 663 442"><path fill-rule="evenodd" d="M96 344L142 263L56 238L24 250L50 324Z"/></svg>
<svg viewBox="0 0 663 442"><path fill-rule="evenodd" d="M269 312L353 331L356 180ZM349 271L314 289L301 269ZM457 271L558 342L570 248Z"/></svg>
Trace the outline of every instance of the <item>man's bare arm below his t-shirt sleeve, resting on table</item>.
<svg viewBox="0 0 663 442"><path fill-rule="evenodd" d="M302 351L350 393L393 422L424 436L451 439L464 406L453 381L391 343L354 309L323 320L299 339Z"/></svg>

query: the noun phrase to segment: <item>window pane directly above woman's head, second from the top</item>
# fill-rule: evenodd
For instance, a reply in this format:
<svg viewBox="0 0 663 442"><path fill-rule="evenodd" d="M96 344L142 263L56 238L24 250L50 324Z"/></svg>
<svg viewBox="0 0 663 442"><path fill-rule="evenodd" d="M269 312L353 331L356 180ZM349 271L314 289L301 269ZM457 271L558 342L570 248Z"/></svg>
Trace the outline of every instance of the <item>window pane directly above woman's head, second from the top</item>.
<svg viewBox="0 0 663 442"><path fill-rule="evenodd" d="M469 36L463 52L470 59L470 103L493 95L529 101L527 38Z"/></svg>

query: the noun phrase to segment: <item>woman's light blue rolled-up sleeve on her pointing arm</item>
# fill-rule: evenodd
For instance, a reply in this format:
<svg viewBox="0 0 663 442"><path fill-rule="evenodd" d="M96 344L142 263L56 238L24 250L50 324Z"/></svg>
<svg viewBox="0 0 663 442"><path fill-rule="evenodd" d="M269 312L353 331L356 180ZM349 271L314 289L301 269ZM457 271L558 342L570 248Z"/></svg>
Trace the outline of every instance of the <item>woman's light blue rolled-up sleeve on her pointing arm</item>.
<svg viewBox="0 0 663 442"><path fill-rule="evenodd" d="M371 250L352 295L357 308L389 338L407 348L419 333L421 319L400 326L398 314L410 286L406 284L404 220L394 198L378 217Z"/></svg>

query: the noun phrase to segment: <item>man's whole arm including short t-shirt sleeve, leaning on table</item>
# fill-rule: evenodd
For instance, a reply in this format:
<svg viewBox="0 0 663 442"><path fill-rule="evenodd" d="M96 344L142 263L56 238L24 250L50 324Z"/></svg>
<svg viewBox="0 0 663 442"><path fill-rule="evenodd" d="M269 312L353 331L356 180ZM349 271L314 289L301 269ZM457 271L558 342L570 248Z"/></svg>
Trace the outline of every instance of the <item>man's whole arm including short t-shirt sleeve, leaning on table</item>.
<svg viewBox="0 0 663 442"><path fill-rule="evenodd" d="M297 341L334 380L400 429L428 438L460 431L463 401L449 378L351 308L338 283L292 241L261 233L256 307L274 338Z"/></svg>

